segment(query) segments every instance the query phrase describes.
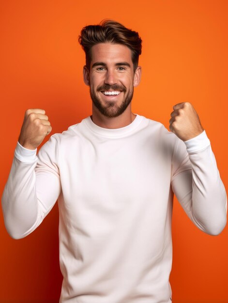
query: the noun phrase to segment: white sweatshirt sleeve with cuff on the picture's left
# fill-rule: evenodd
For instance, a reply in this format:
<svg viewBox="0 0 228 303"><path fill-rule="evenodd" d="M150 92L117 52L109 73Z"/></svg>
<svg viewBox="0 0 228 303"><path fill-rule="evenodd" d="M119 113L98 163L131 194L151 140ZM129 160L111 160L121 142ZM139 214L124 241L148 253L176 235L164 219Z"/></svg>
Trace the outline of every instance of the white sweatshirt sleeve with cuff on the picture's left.
<svg viewBox="0 0 228 303"><path fill-rule="evenodd" d="M24 238L37 228L61 192L53 136L40 149L30 151L17 143L11 171L2 195L5 227L14 239Z"/></svg>

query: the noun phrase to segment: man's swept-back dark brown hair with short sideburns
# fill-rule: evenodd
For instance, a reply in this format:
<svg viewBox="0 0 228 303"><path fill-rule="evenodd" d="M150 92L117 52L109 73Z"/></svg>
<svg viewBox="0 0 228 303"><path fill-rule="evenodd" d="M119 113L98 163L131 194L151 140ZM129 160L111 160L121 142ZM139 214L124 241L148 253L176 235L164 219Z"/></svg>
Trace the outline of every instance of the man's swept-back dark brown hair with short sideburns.
<svg viewBox="0 0 228 303"><path fill-rule="evenodd" d="M81 30L78 42L86 53L86 66L90 70L91 47L98 43L116 43L130 48L134 72L138 66L138 57L142 52L142 40L137 31L125 28L119 22L105 19L98 25L87 25Z"/></svg>

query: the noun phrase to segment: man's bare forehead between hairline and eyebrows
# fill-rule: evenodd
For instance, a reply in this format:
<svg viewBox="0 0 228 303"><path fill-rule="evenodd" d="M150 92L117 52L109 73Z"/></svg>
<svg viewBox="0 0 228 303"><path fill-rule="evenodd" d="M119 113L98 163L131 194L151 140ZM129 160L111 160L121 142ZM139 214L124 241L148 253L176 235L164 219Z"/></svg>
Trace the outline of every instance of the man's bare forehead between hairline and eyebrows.
<svg viewBox="0 0 228 303"><path fill-rule="evenodd" d="M102 61L105 63L117 63L127 61L132 63L131 50L122 44L98 43L91 47L91 63Z"/></svg>

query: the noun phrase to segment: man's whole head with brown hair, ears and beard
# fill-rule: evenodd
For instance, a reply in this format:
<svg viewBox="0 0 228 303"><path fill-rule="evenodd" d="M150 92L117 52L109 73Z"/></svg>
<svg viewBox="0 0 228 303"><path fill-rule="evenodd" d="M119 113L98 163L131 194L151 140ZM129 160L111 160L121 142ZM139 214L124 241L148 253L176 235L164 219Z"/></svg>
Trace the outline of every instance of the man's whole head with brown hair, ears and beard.
<svg viewBox="0 0 228 303"><path fill-rule="evenodd" d="M141 77L138 33L106 20L83 28L78 40L86 53L83 76L90 86L93 109L109 118L118 117L127 108L130 111L134 86Z"/></svg>

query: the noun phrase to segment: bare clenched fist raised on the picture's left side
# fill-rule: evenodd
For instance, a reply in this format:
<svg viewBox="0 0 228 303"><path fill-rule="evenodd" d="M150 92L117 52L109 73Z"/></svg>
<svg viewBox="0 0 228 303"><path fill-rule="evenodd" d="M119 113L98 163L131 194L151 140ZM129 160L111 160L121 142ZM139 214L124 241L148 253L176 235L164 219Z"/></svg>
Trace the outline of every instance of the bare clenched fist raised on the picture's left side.
<svg viewBox="0 0 228 303"><path fill-rule="evenodd" d="M27 109L18 142L29 150L35 150L45 136L50 134L51 129L44 109Z"/></svg>

